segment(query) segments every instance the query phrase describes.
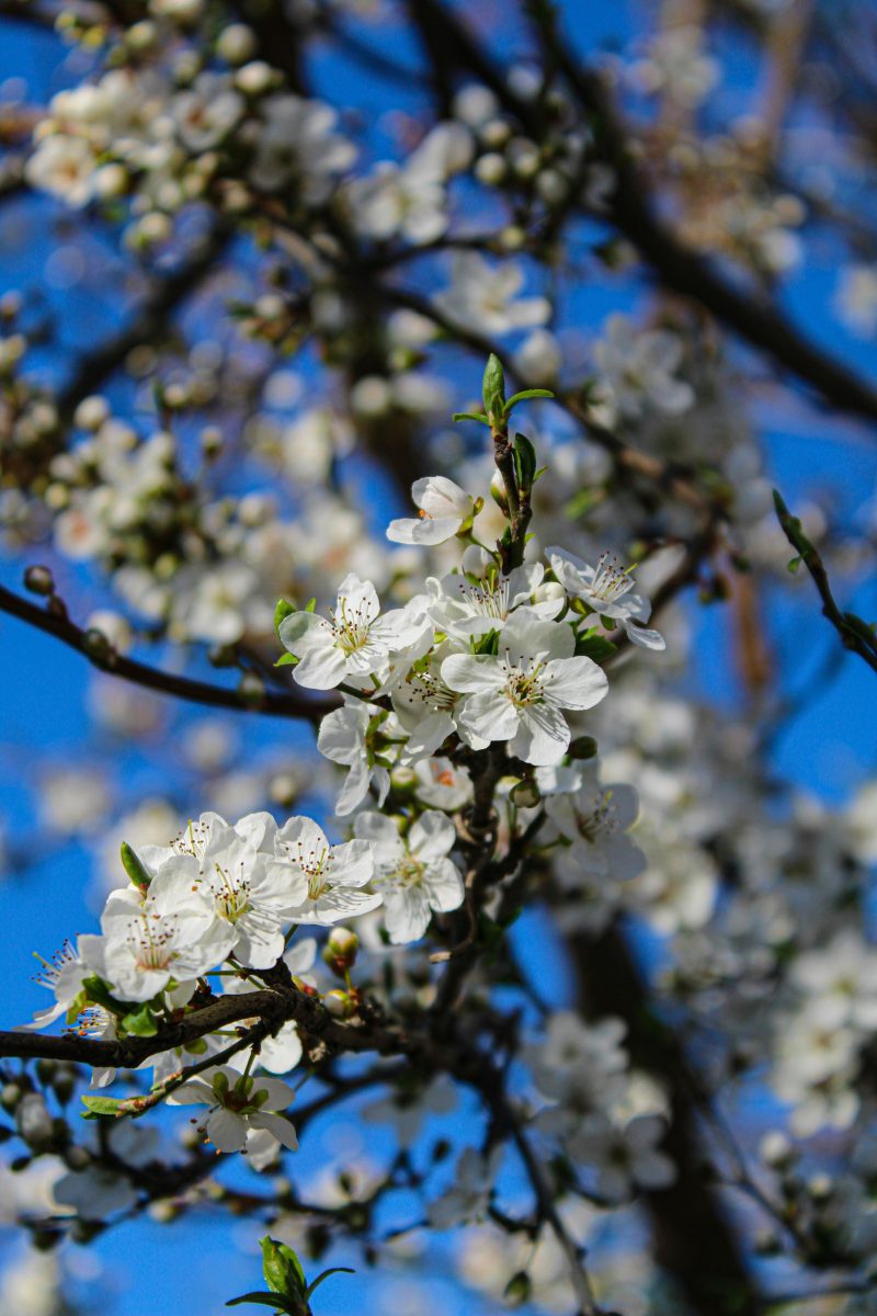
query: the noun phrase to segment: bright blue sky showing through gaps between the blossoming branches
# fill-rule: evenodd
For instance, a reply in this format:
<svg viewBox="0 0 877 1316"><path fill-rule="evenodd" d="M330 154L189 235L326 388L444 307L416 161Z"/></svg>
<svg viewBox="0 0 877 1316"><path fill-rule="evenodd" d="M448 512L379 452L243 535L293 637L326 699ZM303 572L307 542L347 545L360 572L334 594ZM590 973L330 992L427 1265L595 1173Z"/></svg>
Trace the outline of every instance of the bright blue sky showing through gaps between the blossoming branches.
<svg viewBox="0 0 877 1316"><path fill-rule="evenodd" d="M564 8L581 50L623 36L630 22L628 5L568 0ZM496 13L506 14L506 5L497 4ZM45 96L71 80L70 75L53 75L57 43L51 36L8 20L3 21L0 33L0 82L24 79L34 95ZM376 39L367 26L363 26L363 34L367 39ZM397 34L380 34L380 45L391 54L410 58L408 45ZM317 70L317 84L326 87L338 72L330 58L321 61ZM369 74L350 67L344 68L344 92L351 100L380 108L379 92ZM417 95L410 97L412 107L417 105ZM39 225L42 234L37 242L32 237L34 224ZM95 272L84 284L78 284L75 290L63 287L66 266L63 261L55 261L55 287L46 286L45 267L55 238L42 203L5 207L0 215L0 237L7 251L5 257L0 257L5 286L28 288L42 284L50 303L63 307L66 322L76 325L79 342L85 341L96 326L107 326L105 299L101 297L100 284L92 286L91 282L100 268L97 251L93 257ZM834 317L824 313L834 295L835 274L836 254L826 247L818 249L793 280L788 292L789 307L814 337L844 351L863 372L873 372L877 366L873 343L852 340ZM576 313L596 329L605 315L617 308L618 290L611 286L584 290L577 293L577 300ZM109 315L112 322L112 308ZM462 382L464 395L472 391L477 379L475 365L471 371L471 379ZM803 401L776 408L776 413L765 411L761 420L772 476L793 507L814 491L824 494L830 488L840 516L848 517L873 494L873 430L868 433L864 426L838 421ZM384 520L397 511L394 495L385 483L369 479L373 515L376 520ZM4 583L17 587L21 570L20 561L0 559ZM67 579L78 603L85 609L89 605L87 590L74 572L68 572ZM866 619L877 616L877 584L873 580L860 587L855 596L845 594L845 588L839 582L844 604L855 605ZM772 642L782 654L786 688L803 687L820 667L827 650L836 644L836 637L819 616L815 592L807 582L798 583L792 594L777 588L765 604ZM696 613L696 679L705 697L734 707L739 703L739 690L728 663L727 624L727 613L719 607ZM36 834L37 820L26 790L34 765L46 755L55 762L75 763L80 755L101 753L100 747L95 750L93 745L87 745L89 719L84 704L88 688L89 672L78 655L20 622L0 619L0 815L18 840ZM859 780L877 770L873 734L876 688L873 674L865 665L848 657L840 676L819 694L818 703L798 716L778 741L774 762L780 775L826 800L843 801ZM242 734L242 753L264 751L288 734L287 728L266 719L247 721L235 717L235 725ZM168 749L174 751L172 734ZM114 749L108 747L105 753L108 761L116 761ZM120 762L125 774L121 786L126 795L135 796L138 791L146 794L155 788L150 776L154 770L137 753L122 755ZM71 846L36 865L21 878L0 884L0 928L4 930L7 967L0 1026L22 1023L42 1003L42 994L29 976L34 970L30 951L50 953L66 936L91 926L92 913L85 899L89 876L87 850ZM523 928L521 946L546 955L546 929L534 920ZM373 1134L369 1132L368 1136ZM322 1129L316 1126L306 1154L309 1158L331 1155L333 1148L351 1138L360 1142L363 1138L362 1125L350 1117L325 1121ZM99 1279L88 1279L88 1284L97 1286L89 1291L89 1305L96 1305L97 1295L100 1309L112 1316L155 1316L156 1311L206 1316L216 1312L226 1298L258 1287L258 1258L238 1250L241 1244L251 1245L255 1236L256 1230L242 1223L229 1223L225 1217L197 1224L180 1221L170 1229L150 1221L120 1227L96 1246L105 1269ZM368 1305L373 1286L341 1278L321 1291L321 1316L347 1312L354 1284L364 1316L377 1309ZM452 1309L460 1316L484 1309L456 1290L451 1294L440 1269L429 1286L438 1309Z"/></svg>

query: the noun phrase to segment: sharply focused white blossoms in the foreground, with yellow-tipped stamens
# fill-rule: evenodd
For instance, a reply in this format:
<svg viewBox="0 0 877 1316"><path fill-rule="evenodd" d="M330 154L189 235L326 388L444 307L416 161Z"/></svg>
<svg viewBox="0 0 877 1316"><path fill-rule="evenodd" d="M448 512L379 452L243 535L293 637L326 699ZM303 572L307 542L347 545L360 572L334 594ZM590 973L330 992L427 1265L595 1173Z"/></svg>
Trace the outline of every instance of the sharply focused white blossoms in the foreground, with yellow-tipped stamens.
<svg viewBox="0 0 877 1316"><path fill-rule="evenodd" d="M530 483L519 476L522 496L533 472ZM430 576L401 608L383 609L375 586L350 574L329 616L314 603L296 611L284 600L275 616L287 650L279 666L291 666L305 690L343 695L343 707L322 720L318 746L347 769L337 815L348 819L348 840L330 841L309 817L279 825L256 812L235 824L204 813L168 845L124 844L129 884L107 898L100 933L80 936L46 967L54 1005L30 1026L66 1015L89 1036L150 1037L214 999L212 976L225 982L224 995L239 994L267 986L279 966L313 992L302 978L313 938L289 949L302 925L334 928L327 962L342 966L347 994L323 1000L346 1017L358 1001L348 975L358 938L337 925L373 913L384 942L400 946L460 908L476 783L486 783L488 803L501 782L511 800L518 791L515 811L550 825L547 845L568 873L611 880L642 870L626 836L634 792L596 786L576 766L575 747L569 758L573 720L609 688L592 654L613 653L609 636L619 630L636 645L664 646L643 626L650 609L630 572L605 557L592 567L561 549L550 549L547 562L525 562L523 532L511 524L521 561L509 565L509 536L494 550L473 537L481 499L440 476L417 482L413 495L421 517L393 521L391 540L435 546L456 537L456 570ZM283 1074L297 1063L295 1023L246 1053L237 1046L226 1057L221 1038L221 1029L206 1030L197 1046L154 1054L154 1091L206 1103L205 1136L267 1165L277 1145L296 1146L284 1113L292 1090L251 1071ZM217 1062L175 1080L197 1054ZM113 1076L99 1070L95 1083Z"/></svg>

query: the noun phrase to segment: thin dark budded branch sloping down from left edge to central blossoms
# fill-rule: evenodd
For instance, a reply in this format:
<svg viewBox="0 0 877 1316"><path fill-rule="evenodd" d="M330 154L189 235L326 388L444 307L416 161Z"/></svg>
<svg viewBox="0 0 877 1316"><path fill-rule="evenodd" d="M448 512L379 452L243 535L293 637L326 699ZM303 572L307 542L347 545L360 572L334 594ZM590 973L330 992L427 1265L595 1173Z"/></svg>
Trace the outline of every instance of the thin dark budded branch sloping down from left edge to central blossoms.
<svg viewBox="0 0 877 1316"><path fill-rule="evenodd" d="M155 690L162 695L184 699L188 703L208 704L212 708L230 708L241 713L256 712L272 717L302 717L314 724L320 722L321 717L337 703L312 701L295 691L289 691L289 694L264 691L259 699L254 700L237 690L212 686L209 682L193 680L189 676L178 676L170 671L159 671L112 649L93 646L87 638L88 633L75 622L39 608L36 603L22 599L4 586L0 586L0 612L7 612L12 617L36 626L37 630L53 636L68 649L74 649L87 658L99 671L105 671L110 676L118 676L121 680L129 680L146 690Z"/></svg>

